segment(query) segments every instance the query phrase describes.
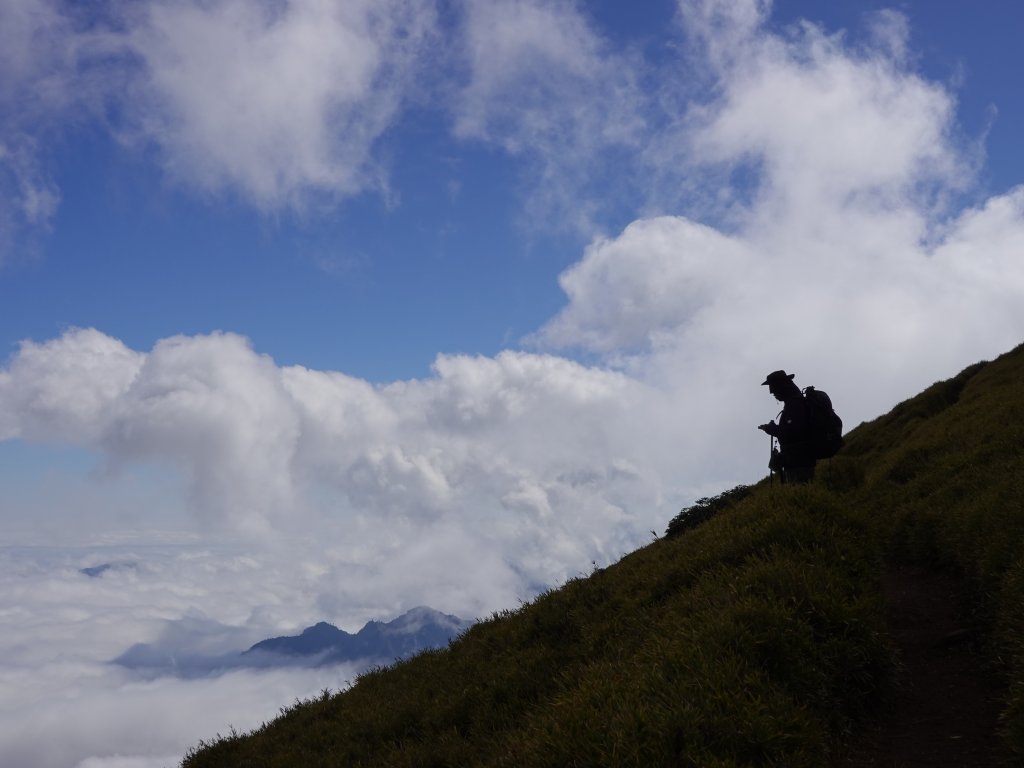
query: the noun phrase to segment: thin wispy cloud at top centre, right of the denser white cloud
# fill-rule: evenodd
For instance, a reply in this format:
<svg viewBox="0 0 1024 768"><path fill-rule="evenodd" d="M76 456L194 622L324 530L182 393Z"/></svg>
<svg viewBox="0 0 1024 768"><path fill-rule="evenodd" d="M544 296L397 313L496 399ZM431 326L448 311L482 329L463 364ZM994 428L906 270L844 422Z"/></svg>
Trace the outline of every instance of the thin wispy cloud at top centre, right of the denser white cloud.
<svg viewBox="0 0 1024 768"><path fill-rule="evenodd" d="M642 56L615 47L570 0L466 2L466 84L453 99L455 135L501 147L525 171L535 225L600 229L635 190L651 135ZM626 197L626 196L623 196Z"/></svg>

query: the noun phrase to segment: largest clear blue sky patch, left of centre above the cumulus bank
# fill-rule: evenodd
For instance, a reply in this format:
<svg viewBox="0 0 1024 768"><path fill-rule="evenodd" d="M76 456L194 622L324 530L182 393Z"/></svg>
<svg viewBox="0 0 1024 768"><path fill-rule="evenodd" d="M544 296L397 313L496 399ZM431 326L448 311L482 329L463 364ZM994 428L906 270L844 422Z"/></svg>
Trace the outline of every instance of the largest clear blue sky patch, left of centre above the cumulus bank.
<svg viewBox="0 0 1024 768"><path fill-rule="evenodd" d="M515 343L557 308L577 240L523 231L509 163L474 147L445 159L439 129L396 129L410 135L395 201L365 193L310 212L197 196L109 137L69 143L50 230L3 275L6 347L71 326L136 348L231 330L283 364L389 381L428 374L437 351Z"/></svg>

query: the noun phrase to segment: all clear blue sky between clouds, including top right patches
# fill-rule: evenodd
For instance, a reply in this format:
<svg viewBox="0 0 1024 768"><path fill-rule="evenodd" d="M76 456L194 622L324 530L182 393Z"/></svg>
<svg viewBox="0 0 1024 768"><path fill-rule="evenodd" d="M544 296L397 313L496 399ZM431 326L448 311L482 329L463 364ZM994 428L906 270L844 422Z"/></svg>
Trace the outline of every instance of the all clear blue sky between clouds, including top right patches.
<svg viewBox="0 0 1024 768"><path fill-rule="evenodd" d="M771 24L809 18L856 37L864 13L885 7L777 2ZM898 7L910 25L913 69L955 83L965 137L984 137L981 182L994 191L1016 184L1024 171L1013 43L1021 9ZM611 46L675 55L671 2L586 11ZM238 188L202 194L170 179L153 147L126 148L110 126L50 121L37 162L60 203L45 226L19 227L4 254L0 341L9 354L23 339L95 327L145 349L170 335L222 329L282 364L378 382L428 375L440 351L515 346L564 302L557 275L595 231L616 233L647 201L608 195L607 215L585 230L536 222L524 212L536 184L528 160L455 139L451 124L443 108L427 105L388 127L374 147L386 164L386 195L267 211Z"/></svg>

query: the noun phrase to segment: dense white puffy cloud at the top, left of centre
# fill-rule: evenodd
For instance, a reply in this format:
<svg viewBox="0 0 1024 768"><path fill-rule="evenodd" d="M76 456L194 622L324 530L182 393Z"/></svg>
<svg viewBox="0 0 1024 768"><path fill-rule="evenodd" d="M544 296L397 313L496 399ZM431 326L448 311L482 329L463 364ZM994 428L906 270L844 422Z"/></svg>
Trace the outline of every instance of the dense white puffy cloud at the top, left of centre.
<svg viewBox="0 0 1024 768"><path fill-rule="evenodd" d="M374 143L421 62L431 3L159 0L138 13L131 118L173 175L270 210L380 187Z"/></svg>

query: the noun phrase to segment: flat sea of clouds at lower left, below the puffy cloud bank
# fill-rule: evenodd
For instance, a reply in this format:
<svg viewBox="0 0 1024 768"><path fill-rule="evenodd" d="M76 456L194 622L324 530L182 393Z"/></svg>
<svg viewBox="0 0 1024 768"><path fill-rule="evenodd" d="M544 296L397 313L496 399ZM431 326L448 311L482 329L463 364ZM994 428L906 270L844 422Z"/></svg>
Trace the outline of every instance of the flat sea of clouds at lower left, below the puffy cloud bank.
<svg viewBox="0 0 1024 768"><path fill-rule="evenodd" d="M82 572L104 562L114 567ZM237 548L186 541L0 550L3 764L175 766L200 738L343 687L354 674L343 667L186 680L171 666L140 675L110 664L137 640L182 654L246 648L312 609L301 583Z"/></svg>

